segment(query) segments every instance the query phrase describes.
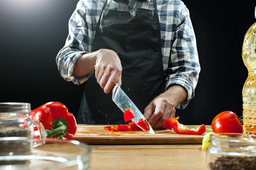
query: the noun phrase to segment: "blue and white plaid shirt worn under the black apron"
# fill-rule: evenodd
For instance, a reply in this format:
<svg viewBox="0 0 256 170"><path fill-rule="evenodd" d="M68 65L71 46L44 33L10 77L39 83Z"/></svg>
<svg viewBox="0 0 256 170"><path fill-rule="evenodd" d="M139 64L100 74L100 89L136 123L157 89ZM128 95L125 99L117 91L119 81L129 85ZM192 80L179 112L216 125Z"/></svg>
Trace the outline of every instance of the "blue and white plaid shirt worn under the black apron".
<svg viewBox="0 0 256 170"><path fill-rule="evenodd" d="M56 62L61 76L74 84L82 84L92 74L80 79L73 76L74 64L81 54L92 52L97 22L104 0L80 0L69 21L69 35ZM130 11L144 8L154 11L153 0L108 0L105 9ZM185 108L194 96L200 65L189 10L181 0L157 0L166 89L180 85L187 99L176 108Z"/></svg>

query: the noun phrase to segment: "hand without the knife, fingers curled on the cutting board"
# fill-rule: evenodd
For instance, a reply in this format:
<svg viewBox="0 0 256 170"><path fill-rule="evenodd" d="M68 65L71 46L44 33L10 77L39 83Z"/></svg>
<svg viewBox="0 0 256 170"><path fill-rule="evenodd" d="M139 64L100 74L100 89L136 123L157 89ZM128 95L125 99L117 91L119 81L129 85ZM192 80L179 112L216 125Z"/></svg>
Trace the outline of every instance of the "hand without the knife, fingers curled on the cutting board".
<svg viewBox="0 0 256 170"><path fill-rule="evenodd" d="M155 98L144 110L144 117L153 129L157 129L169 118L175 116L172 102L164 97Z"/></svg>

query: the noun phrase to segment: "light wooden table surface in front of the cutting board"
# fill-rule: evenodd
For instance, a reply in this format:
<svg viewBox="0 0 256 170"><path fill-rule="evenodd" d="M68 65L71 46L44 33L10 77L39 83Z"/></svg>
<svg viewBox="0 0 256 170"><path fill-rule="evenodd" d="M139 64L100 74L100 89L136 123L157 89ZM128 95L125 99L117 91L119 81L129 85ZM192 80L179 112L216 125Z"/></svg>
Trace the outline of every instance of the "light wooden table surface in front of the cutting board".
<svg viewBox="0 0 256 170"><path fill-rule="evenodd" d="M90 170L207 170L199 144L91 145Z"/></svg>

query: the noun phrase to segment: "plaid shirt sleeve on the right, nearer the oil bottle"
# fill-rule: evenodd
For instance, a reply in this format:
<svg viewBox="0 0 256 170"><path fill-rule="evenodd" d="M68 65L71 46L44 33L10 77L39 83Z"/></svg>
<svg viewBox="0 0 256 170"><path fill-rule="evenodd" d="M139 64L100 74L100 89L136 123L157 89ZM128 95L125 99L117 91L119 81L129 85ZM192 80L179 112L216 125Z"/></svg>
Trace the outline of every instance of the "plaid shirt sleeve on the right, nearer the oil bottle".
<svg viewBox="0 0 256 170"><path fill-rule="evenodd" d="M179 11L173 46L171 46L166 89L173 85L180 85L185 88L187 98L176 106L176 108L184 109L194 96L194 89L200 73L200 64L189 10L182 3Z"/></svg>

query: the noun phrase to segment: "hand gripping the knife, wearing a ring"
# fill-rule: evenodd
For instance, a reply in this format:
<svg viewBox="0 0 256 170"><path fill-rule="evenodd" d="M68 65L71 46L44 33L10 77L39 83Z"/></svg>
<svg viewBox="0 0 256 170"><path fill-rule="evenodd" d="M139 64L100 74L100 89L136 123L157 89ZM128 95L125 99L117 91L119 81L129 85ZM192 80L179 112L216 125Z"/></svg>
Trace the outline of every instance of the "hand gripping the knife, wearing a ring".
<svg viewBox="0 0 256 170"><path fill-rule="evenodd" d="M95 78L105 93L109 93L116 82L121 86L122 66L115 51L100 49L94 68Z"/></svg>

